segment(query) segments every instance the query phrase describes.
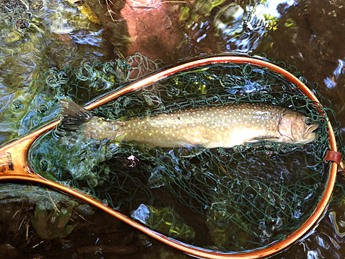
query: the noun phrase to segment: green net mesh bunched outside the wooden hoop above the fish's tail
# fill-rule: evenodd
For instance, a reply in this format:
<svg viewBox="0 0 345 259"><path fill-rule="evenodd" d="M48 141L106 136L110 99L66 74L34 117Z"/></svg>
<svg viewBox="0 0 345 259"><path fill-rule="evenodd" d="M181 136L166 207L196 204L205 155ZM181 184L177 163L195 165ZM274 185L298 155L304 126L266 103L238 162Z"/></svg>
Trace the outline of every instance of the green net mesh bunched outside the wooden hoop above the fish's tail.
<svg viewBox="0 0 345 259"><path fill-rule="evenodd" d="M87 102L110 90L118 90L124 84L137 80L161 68L162 61L151 61L137 53L128 59L86 62L80 66L66 66L63 70L52 68L43 75L48 91L57 97L71 97L76 102ZM38 81L35 81L37 84ZM56 103L58 99L55 99Z"/></svg>

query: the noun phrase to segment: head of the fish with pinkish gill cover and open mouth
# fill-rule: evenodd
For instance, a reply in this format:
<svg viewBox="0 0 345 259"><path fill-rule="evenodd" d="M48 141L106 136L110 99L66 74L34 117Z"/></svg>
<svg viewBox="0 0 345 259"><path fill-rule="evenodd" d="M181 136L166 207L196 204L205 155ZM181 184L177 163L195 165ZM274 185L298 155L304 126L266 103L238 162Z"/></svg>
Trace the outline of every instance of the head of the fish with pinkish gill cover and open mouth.
<svg viewBox="0 0 345 259"><path fill-rule="evenodd" d="M278 133L282 142L308 143L315 139L317 128L319 124L311 117L290 111L280 118Z"/></svg>

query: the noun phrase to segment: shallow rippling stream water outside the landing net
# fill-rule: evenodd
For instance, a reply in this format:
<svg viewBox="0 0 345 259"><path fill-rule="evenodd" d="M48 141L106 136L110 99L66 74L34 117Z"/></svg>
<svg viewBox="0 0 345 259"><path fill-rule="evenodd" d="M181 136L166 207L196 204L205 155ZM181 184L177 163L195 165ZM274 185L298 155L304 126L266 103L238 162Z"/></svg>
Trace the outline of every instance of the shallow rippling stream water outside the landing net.
<svg viewBox="0 0 345 259"><path fill-rule="evenodd" d="M210 53L264 52L269 58L296 66L308 81L319 84L319 92L331 102L342 123L344 137L343 1L119 1L114 5L108 1L112 17L106 2L101 6L98 1L93 6L90 2L97 13L103 13L100 20L106 26L90 23L63 1L4 3L19 4L21 12L1 15L1 145L58 116L58 105L52 99L56 88L44 88L45 81L37 81L48 69L60 71L135 52L152 60L162 59L166 65ZM190 9L188 18L181 19L181 6ZM1 10L3 13L3 6ZM88 97L84 99L88 101ZM344 184L342 176L338 183ZM41 242L30 223L34 204L2 201L0 251L8 258L60 258L61 254L66 258L133 258L132 253L135 258L188 257L106 213L83 209L75 209L70 217L74 222L67 225L77 226L68 238ZM308 235L274 258L344 258L344 211L342 204L331 203ZM60 226L66 229L66 224ZM106 249L112 253L104 253Z"/></svg>

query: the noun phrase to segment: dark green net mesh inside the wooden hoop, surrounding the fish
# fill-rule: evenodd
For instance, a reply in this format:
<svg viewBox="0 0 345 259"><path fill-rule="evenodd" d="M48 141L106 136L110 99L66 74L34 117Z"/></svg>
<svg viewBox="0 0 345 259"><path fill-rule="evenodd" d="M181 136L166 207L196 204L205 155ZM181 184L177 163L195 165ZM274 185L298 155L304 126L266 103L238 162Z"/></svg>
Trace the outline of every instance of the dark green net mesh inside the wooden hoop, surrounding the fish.
<svg viewBox="0 0 345 259"><path fill-rule="evenodd" d="M94 97L90 75L63 73L58 95L79 104ZM118 88L126 82L122 77L107 80ZM187 244L228 252L266 247L299 229L327 182L325 119L295 85L266 68L213 64L171 75L92 113L125 120L242 102L300 111L319 122L317 138L304 145L261 141L233 148L152 148L86 140L81 131L50 131L30 149L30 164L43 178L92 195Z"/></svg>

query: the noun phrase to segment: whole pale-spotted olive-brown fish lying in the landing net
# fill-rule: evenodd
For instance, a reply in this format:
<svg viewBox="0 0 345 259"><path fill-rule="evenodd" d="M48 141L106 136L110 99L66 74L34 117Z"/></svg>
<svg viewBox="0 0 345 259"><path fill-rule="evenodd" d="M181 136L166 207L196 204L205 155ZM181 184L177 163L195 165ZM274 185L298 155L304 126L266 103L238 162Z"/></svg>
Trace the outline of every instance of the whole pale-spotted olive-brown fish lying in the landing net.
<svg viewBox="0 0 345 259"><path fill-rule="evenodd" d="M60 99L61 124L95 140L148 144L152 147L231 148L246 142L305 144L315 140L319 124L290 108L240 103L187 108L171 113L110 120L97 117L68 99Z"/></svg>

